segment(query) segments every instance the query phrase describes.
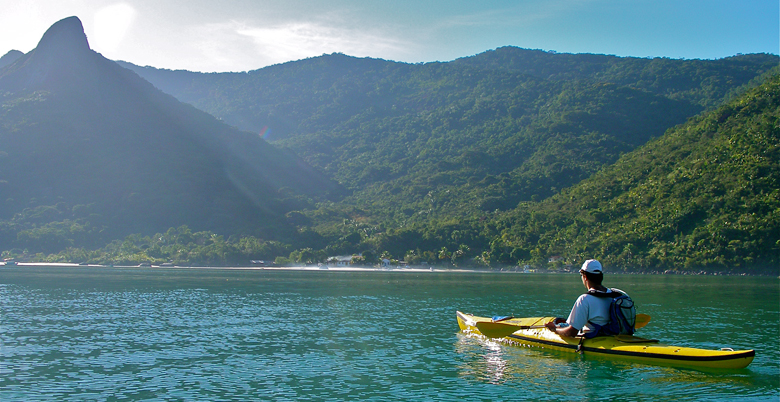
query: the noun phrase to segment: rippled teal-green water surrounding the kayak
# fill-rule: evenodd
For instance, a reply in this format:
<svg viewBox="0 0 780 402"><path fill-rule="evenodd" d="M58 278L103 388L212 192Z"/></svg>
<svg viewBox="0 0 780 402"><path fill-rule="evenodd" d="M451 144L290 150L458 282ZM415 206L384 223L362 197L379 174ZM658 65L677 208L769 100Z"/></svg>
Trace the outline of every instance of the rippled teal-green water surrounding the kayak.
<svg viewBox="0 0 780 402"><path fill-rule="evenodd" d="M568 314L577 275L0 269L0 400L777 401L777 278L619 275L697 371L494 344L455 311Z"/></svg>

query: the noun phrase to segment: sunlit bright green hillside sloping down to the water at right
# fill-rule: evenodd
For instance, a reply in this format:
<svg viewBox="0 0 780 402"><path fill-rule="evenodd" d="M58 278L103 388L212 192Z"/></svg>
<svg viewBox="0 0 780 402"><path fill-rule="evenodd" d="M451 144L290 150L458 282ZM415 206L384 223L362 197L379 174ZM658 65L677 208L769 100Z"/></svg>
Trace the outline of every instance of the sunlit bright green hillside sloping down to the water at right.
<svg viewBox="0 0 780 402"><path fill-rule="evenodd" d="M780 74L499 229L503 252L620 269L777 274ZM511 250L511 251L510 251Z"/></svg>

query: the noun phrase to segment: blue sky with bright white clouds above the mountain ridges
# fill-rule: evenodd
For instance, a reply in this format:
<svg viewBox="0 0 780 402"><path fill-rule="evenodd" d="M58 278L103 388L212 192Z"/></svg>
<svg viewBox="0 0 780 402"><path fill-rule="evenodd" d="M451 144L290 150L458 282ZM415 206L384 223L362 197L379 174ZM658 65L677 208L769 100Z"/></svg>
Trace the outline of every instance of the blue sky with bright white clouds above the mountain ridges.
<svg viewBox="0 0 780 402"><path fill-rule="evenodd" d="M502 46L719 59L780 50L779 0L0 0L0 55L77 16L141 66L249 71L334 52L408 63Z"/></svg>

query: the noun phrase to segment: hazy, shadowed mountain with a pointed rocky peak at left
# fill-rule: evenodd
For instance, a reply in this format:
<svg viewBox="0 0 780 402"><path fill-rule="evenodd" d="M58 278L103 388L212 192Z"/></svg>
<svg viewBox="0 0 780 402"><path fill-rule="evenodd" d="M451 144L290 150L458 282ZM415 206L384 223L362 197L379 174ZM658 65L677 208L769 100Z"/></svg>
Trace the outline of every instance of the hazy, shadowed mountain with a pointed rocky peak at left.
<svg viewBox="0 0 780 402"><path fill-rule="evenodd" d="M181 225L285 238L285 213L342 191L92 51L76 17L0 69L0 94L3 244L57 251Z"/></svg>

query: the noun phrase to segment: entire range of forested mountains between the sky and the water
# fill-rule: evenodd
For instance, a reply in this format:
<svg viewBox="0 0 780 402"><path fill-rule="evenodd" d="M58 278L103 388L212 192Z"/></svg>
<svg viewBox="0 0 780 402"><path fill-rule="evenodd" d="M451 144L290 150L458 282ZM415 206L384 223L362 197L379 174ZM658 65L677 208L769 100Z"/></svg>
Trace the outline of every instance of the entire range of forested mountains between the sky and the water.
<svg viewBox="0 0 780 402"><path fill-rule="evenodd" d="M775 88L776 55L120 63L158 90L76 31L0 68L4 255L776 267L775 98L750 89Z"/></svg>

